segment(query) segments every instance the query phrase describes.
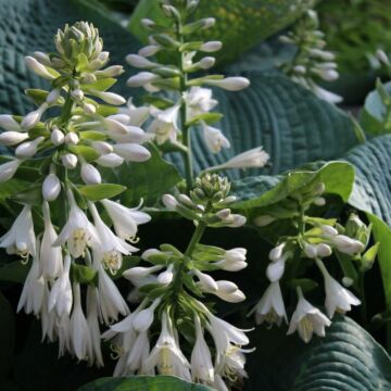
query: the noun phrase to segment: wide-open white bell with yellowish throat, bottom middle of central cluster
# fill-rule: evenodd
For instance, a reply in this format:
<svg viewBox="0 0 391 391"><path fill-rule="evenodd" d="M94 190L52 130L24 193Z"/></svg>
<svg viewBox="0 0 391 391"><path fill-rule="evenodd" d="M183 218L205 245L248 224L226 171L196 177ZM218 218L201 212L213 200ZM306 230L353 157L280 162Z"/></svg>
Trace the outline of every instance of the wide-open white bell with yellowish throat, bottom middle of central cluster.
<svg viewBox="0 0 391 391"><path fill-rule="evenodd" d="M150 371L156 367L160 375L177 376L191 381L190 364L175 339L174 329L168 315L162 313L162 331L144 362L144 370Z"/></svg>

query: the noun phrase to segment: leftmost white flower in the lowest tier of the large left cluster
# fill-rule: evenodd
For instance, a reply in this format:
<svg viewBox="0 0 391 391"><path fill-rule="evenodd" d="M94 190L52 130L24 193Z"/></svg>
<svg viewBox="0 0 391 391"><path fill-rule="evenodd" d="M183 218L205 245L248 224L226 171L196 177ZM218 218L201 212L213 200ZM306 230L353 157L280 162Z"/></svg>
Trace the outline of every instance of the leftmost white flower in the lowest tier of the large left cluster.
<svg viewBox="0 0 391 391"><path fill-rule="evenodd" d="M39 243L37 244L39 245ZM31 267L23 286L16 312L24 308L26 314L33 313L35 316L39 316L45 300L45 280L39 269L39 257L36 255L33 257Z"/></svg>

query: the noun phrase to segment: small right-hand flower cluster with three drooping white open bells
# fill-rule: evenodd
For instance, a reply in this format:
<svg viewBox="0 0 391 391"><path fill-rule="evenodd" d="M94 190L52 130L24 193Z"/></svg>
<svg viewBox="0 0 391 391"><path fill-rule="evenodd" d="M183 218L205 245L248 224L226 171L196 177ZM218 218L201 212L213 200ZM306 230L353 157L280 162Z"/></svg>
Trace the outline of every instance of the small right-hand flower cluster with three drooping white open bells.
<svg viewBox="0 0 391 391"><path fill-rule="evenodd" d="M368 250L365 254L362 254L368 244L370 228L361 222L358 216L353 215L348 220L346 226L342 227L335 219L325 220L304 214L311 204L325 204L326 201L321 197L324 191L325 185L321 182L316 184L310 187L306 193L292 194L292 200L287 201L287 205L291 207L292 216L294 216L293 219L298 223L295 227L299 232L295 236L282 237L279 243L269 252L270 263L267 266L266 276L270 283L252 311L252 313L255 313L257 324L266 321L269 325L276 324L280 326L282 320L288 323L280 281L285 277L288 264L290 264L292 270L292 267L294 268L294 265L302 258L312 260L324 279L325 307L328 317L304 298L305 283L302 279L298 279L298 276L293 275L295 279L293 283L292 281L285 281L287 285L294 286L298 291L297 310L291 317L288 333L298 330L305 342L312 339L314 332L319 337L325 337L325 327L330 326L330 319L336 312L345 313L351 311L352 305L361 304L361 301L350 290L342 287L330 275L323 260L335 254L345 263L351 262L353 258L361 263L363 269L365 269L374 261L376 253L376 251L374 253L374 251ZM294 202L291 202L293 200L297 202L297 211L294 211ZM280 207L278 214L281 213L285 214L282 218L286 218L288 211L282 212L282 207ZM279 217L262 215L255 219L255 223L265 225L277 218ZM299 258L295 256L298 253L300 254ZM355 268L353 267L353 269ZM291 273L289 275L292 277ZM342 280L343 285L345 287L352 286L356 282L354 281L355 277L354 275L345 275ZM301 281L303 287L301 287Z"/></svg>

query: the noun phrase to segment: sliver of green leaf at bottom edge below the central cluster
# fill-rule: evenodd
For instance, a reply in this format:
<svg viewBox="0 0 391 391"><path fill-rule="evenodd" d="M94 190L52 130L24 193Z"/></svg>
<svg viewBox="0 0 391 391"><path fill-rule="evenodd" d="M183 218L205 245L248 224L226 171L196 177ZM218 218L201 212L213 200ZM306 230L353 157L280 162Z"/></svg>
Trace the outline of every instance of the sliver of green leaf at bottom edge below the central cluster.
<svg viewBox="0 0 391 391"><path fill-rule="evenodd" d="M203 384L193 384L172 376L134 376L102 378L83 386L78 391L212 391Z"/></svg>

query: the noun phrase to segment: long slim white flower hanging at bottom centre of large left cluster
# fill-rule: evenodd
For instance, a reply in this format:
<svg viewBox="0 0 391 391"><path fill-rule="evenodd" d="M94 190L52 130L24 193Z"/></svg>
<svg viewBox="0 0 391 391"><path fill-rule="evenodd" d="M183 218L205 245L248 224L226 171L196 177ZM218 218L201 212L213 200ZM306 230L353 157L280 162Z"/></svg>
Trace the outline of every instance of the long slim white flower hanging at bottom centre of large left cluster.
<svg viewBox="0 0 391 391"><path fill-rule="evenodd" d="M78 360L88 360L92 355L90 331L81 308L80 286L74 283L73 288L74 308L70 323L72 350Z"/></svg>

